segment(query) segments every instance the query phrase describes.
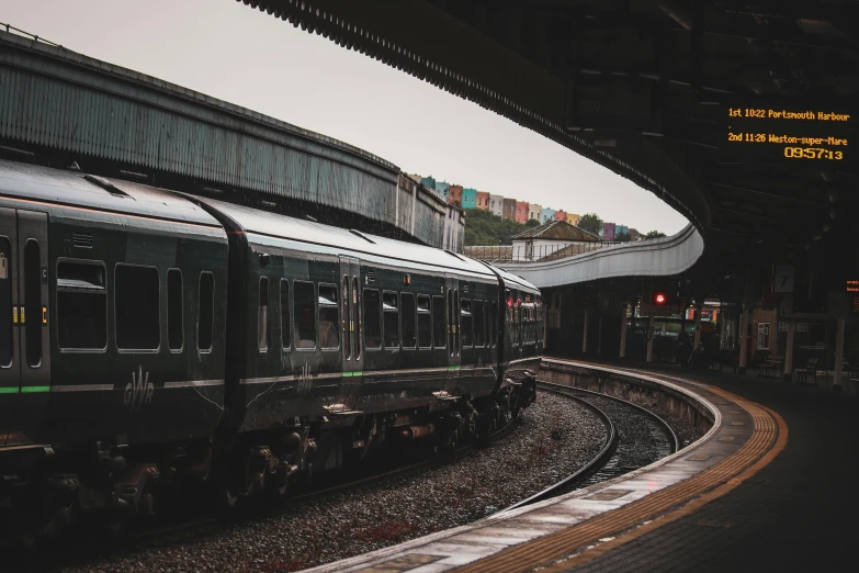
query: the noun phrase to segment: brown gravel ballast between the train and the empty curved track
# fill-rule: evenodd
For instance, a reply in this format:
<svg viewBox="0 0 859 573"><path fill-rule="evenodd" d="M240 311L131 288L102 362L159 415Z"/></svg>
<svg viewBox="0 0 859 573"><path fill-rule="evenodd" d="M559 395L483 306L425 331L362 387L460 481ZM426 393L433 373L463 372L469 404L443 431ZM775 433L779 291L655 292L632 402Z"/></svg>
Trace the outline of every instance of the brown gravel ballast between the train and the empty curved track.
<svg viewBox="0 0 859 573"><path fill-rule="evenodd" d="M500 510L581 468L606 437L591 411L541 392L511 434L451 463L224 525L205 539L91 557L59 571L297 571Z"/></svg>

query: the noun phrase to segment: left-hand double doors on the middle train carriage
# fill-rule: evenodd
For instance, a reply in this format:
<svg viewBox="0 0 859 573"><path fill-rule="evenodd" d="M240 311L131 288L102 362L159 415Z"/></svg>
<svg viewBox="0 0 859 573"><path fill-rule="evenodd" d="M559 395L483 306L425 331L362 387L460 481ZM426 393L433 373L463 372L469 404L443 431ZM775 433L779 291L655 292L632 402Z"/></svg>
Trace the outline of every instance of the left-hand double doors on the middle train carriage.
<svg viewBox="0 0 859 573"><path fill-rule="evenodd" d="M342 378L339 403L353 409L363 377L361 335L361 266L358 259L340 257L340 324Z"/></svg>

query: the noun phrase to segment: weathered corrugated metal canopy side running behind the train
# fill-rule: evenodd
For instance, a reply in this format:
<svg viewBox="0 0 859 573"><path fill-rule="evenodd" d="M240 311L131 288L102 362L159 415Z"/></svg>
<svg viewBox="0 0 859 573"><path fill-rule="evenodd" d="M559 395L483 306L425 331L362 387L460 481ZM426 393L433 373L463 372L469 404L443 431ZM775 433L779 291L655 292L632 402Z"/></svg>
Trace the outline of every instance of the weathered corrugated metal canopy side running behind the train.
<svg viewBox="0 0 859 573"><path fill-rule="evenodd" d="M213 187L307 201L397 226L428 245L444 245L447 214L433 201L416 201L412 211L411 198L397 193L399 169L380 157L180 86L4 32L0 138L176 173ZM86 170L86 164L81 167Z"/></svg>

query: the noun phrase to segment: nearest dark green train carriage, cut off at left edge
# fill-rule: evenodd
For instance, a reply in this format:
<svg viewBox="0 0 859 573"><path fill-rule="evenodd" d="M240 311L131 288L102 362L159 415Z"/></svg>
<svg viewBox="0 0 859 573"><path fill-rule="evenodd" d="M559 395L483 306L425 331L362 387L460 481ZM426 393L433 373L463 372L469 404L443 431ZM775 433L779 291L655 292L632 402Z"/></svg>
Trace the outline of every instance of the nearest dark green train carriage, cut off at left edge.
<svg viewBox="0 0 859 573"><path fill-rule="evenodd" d="M4 446L86 448L108 473L132 452L134 473L151 461L136 446L207 442L224 409L226 258L224 228L170 192L0 162ZM14 463L0 456L4 474Z"/></svg>

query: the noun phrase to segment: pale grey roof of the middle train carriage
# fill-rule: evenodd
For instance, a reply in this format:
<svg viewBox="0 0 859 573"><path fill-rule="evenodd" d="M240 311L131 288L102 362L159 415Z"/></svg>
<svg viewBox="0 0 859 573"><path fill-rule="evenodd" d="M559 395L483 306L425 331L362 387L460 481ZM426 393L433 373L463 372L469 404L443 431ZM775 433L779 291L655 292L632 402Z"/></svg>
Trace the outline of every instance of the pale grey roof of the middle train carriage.
<svg viewBox="0 0 859 573"><path fill-rule="evenodd" d="M354 229L334 227L303 218L269 213L214 199L196 199L228 216L242 231L248 233L320 245L340 251L357 254L358 257L363 254L410 263L428 265L443 270L493 277L490 269L464 255L415 243L380 237Z"/></svg>

